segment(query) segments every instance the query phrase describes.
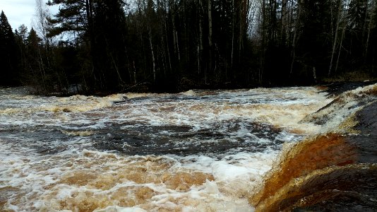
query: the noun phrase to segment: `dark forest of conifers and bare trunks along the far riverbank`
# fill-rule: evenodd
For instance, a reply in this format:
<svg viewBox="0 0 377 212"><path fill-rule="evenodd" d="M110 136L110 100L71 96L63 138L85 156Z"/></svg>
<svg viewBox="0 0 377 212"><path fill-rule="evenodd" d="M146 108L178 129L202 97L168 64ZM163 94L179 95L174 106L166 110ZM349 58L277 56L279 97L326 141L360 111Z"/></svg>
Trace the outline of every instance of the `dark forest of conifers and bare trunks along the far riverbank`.
<svg viewBox="0 0 377 212"><path fill-rule="evenodd" d="M0 86L104 95L377 76L376 0L36 0L35 13L13 31L1 12Z"/></svg>

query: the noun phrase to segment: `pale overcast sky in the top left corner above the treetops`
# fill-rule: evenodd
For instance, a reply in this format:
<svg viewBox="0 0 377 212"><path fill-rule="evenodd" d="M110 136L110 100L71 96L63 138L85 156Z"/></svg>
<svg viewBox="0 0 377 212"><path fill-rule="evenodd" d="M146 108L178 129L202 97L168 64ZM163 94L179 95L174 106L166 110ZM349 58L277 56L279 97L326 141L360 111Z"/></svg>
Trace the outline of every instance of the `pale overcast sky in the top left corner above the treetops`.
<svg viewBox="0 0 377 212"><path fill-rule="evenodd" d="M30 30L32 19L35 19L35 0L0 0L0 11L4 11L13 31L21 24L25 24ZM56 13L57 10L49 8L49 11Z"/></svg>

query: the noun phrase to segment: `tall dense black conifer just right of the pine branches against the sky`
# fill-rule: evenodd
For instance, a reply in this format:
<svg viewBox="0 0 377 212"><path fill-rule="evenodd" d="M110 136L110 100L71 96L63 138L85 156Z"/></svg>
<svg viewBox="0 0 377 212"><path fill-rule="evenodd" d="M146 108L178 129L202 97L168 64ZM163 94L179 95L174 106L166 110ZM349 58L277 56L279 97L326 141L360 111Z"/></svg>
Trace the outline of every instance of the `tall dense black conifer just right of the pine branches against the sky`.
<svg viewBox="0 0 377 212"><path fill-rule="evenodd" d="M126 25L123 2L119 0L97 0L93 16L95 42L92 55L95 69L100 73L101 83L106 90L116 90L129 76L126 61Z"/></svg>

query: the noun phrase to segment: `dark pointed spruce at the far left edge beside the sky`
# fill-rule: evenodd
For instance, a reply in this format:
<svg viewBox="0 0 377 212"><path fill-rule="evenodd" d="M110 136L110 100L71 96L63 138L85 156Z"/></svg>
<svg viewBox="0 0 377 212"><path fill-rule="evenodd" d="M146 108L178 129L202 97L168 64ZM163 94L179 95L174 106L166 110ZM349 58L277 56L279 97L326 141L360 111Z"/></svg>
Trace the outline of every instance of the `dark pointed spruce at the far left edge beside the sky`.
<svg viewBox="0 0 377 212"><path fill-rule="evenodd" d="M0 14L0 44L0 85L15 86L18 65L16 40L4 11Z"/></svg>

